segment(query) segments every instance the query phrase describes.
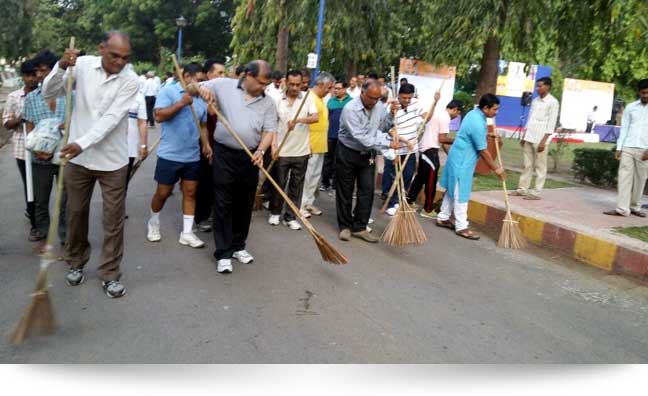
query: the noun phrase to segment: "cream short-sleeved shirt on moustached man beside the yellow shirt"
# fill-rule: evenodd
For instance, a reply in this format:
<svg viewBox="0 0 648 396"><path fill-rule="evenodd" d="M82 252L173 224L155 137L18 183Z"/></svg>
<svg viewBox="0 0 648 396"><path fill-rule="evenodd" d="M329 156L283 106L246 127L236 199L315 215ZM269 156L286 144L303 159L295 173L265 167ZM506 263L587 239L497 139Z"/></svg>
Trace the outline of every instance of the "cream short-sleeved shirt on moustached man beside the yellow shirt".
<svg viewBox="0 0 648 396"><path fill-rule="evenodd" d="M304 93L300 92L299 97L295 99L292 106L288 104L288 98L286 95L282 95L281 98L276 102L277 104L277 116L278 116L278 128L277 128L277 144L280 145L286 131L288 130L288 121L292 120L295 117L297 109L301 104ZM310 95L302 107L301 113L299 113L298 118L307 117L309 114L317 114L317 106L312 100ZM286 144L281 148L279 153L280 157L301 157L304 155L310 154L310 128L308 124L297 124L295 129L290 132Z"/></svg>

